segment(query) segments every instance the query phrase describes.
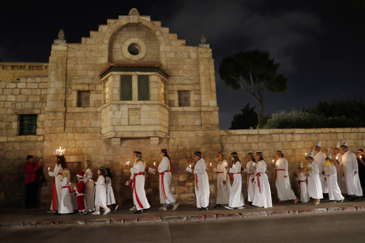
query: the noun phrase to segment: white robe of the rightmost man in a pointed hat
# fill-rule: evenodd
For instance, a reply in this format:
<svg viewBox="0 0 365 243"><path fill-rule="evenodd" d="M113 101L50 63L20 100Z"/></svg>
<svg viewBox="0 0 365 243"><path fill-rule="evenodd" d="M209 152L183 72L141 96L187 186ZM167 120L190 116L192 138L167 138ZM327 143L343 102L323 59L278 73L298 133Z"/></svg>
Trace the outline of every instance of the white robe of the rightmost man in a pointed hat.
<svg viewBox="0 0 365 243"><path fill-rule="evenodd" d="M358 172L356 155L350 151L342 154L342 161L339 166L343 167L343 173L345 173L347 194L362 196L359 173L356 175L354 173L355 171Z"/></svg>

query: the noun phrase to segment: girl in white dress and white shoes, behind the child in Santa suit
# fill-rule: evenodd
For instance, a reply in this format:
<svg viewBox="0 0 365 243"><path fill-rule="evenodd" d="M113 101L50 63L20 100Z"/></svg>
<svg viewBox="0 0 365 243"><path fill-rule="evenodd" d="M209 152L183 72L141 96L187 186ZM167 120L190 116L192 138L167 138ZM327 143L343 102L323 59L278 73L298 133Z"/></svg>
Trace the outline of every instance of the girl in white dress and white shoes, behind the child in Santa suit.
<svg viewBox="0 0 365 243"><path fill-rule="evenodd" d="M105 212L103 214L110 213L110 208L107 207L106 201L107 201L107 171L103 167L99 167L97 170L97 181L94 181L94 184L96 185L95 189L95 212L91 214L100 214L100 207L104 208Z"/></svg>

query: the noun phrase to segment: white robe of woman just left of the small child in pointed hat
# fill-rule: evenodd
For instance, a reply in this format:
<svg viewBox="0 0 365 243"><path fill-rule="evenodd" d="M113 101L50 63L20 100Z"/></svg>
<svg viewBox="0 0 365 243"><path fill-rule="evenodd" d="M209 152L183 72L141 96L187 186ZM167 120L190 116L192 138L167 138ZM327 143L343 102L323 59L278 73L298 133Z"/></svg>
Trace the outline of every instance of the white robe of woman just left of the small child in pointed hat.
<svg viewBox="0 0 365 243"><path fill-rule="evenodd" d="M288 175L288 161L285 158L279 158L276 161L276 191L277 196L280 201L296 199L296 196L291 188L289 175ZM284 171L279 171L278 169L284 169ZM288 176L285 178L284 176Z"/></svg>

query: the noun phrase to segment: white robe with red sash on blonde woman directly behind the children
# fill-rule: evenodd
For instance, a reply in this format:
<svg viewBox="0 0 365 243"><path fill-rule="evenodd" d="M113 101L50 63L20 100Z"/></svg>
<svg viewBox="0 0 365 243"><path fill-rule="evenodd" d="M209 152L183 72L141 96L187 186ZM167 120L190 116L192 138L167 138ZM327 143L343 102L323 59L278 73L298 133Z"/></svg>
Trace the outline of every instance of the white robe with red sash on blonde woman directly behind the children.
<svg viewBox="0 0 365 243"><path fill-rule="evenodd" d="M138 173L143 173L145 171L146 166L143 165L142 160L139 160L134 163L133 168L131 168L131 177L133 180L135 176L135 185L132 184L132 193L133 193L133 203L136 206L137 210L141 210L143 208L150 208L150 204L147 201L146 192L145 192L145 176L137 175ZM137 193L137 195L136 195ZM138 200L139 203L138 203ZM141 207L142 206L142 207Z"/></svg>

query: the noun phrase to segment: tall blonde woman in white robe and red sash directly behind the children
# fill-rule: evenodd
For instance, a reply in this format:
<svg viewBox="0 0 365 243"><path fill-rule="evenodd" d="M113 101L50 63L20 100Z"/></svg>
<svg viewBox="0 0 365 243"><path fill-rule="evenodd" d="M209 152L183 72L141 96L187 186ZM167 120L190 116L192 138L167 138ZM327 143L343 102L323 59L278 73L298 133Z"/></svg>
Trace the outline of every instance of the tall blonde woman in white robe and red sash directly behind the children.
<svg viewBox="0 0 365 243"><path fill-rule="evenodd" d="M131 168L129 165L126 165L127 169L131 170L131 177L129 179L129 183L132 185L132 196L133 203L137 208L136 213L143 213L151 206L147 201L146 192L145 192L145 172L146 164L143 160L142 153L139 151L133 152L134 165Z"/></svg>

